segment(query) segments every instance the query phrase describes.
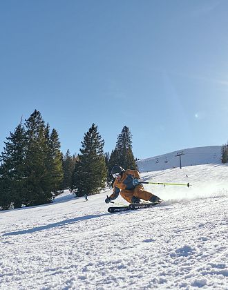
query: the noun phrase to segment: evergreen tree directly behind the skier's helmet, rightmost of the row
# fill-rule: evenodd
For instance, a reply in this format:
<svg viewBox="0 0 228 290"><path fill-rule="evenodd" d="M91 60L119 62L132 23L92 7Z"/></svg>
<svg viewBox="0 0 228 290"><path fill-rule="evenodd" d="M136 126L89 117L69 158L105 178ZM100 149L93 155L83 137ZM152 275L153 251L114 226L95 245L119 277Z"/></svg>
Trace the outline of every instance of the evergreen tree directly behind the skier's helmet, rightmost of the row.
<svg viewBox="0 0 228 290"><path fill-rule="evenodd" d="M137 164L132 151L132 135L127 126L124 126L122 132L117 137L115 150L110 156L108 168L111 169L114 165L120 165L124 169L137 169Z"/></svg>

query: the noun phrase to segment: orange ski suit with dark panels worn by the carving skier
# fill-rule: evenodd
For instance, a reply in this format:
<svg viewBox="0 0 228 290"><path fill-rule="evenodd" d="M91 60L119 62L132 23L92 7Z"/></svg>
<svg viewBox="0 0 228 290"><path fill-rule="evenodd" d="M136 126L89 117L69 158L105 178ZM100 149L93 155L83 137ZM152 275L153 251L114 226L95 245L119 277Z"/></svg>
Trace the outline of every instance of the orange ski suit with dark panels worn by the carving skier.
<svg viewBox="0 0 228 290"><path fill-rule="evenodd" d="M119 193L127 202L132 202L132 197L138 197L142 200L150 200L153 197L152 193L144 191L142 184L133 185L133 179L140 179L140 173L137 170L127 169L123 171L120 181L115 180L113 184L113 193L110 195L110 200L115 200Z"/></svg>

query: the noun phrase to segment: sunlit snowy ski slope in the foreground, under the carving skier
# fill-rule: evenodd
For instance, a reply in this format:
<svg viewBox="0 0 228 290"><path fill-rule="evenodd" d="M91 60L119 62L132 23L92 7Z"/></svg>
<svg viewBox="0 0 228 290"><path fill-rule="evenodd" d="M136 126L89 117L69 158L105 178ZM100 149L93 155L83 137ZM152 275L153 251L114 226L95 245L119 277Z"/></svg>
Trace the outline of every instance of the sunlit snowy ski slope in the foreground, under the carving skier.
<svg viewBox="0 0 228 290"><path fill-rule="evenodd" d="M142 180L192 186L145 186L165 202L138 211L108 213L111 191L1 211L0 289L228 289L228 166Z"/></svg>

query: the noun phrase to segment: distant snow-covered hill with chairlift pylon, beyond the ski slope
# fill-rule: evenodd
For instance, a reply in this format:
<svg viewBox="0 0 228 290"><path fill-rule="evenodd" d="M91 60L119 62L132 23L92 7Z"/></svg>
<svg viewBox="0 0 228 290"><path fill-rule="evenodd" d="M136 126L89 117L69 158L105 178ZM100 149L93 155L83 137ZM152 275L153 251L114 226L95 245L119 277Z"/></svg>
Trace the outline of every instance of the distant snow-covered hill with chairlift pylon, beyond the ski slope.
<svg viewBox="0 0 228 290"><path fill-rule="evenodd" d="M137 166L140 172L160 171L181 165L191 166L200 164L220 164L222 146L205 146L182 149L164 155L158 155L144 160L138 160ZM183 153L178 157L178 153Z"/></svg>

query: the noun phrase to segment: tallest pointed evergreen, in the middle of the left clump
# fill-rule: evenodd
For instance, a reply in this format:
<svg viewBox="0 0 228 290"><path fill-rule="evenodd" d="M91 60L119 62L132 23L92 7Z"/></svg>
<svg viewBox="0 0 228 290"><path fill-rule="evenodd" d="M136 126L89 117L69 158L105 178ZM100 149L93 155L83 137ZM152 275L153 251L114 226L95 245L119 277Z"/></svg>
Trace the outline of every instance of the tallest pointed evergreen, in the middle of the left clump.
<svg viewBox="0 0 228 290"><path fill-rule="evenodd" d="M52 201L52 174L50 173L49 126L45 128L41 113L35 110L26 120L26 206Z"/></svg>

